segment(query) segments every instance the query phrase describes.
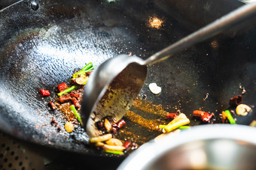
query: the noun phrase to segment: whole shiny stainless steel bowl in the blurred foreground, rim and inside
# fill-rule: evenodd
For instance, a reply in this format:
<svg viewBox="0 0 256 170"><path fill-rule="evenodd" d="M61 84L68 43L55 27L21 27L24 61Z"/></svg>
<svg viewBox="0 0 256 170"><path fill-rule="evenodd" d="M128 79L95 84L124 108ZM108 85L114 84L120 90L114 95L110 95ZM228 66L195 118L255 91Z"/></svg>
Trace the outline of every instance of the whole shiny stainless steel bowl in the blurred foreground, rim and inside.
<svg viewBox="0 0 256 170"><path fill-rule="evenodd" d="M191 127L142 145L118 169L256 169L256 128Z"/></svg>

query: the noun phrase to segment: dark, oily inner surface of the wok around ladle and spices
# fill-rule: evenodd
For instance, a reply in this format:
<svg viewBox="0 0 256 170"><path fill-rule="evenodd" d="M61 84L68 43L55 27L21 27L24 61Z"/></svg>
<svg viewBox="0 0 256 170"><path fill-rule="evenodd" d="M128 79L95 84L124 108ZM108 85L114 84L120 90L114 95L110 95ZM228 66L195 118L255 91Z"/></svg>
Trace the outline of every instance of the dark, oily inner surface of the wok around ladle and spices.
<svg viewBox="0 0 256 170"><path fill-rule="evenodd" d="M92 155L101 153L88 145L84 129L67 133L62 114L48 106L56 96L42 98L38 90L56 94L56 85L68 82L75 69L90 61L97 66L122 53L148 58L242 5L221 0L31 3L20 1L0 11L0 129L26 142ZM217 113L228 108L230 97L241 94L239 85L246 89L243 103L254 106L255 33L252 24L234 27L148 67L140 95L147 94L148 101L167 112L180 109L190 125L200 124L192 116L195 109L216 113L218 123ZM151 82L162 88L161 94L151 94ZM59 132L50 125L53 117ZM236 122L250 124L253 119L254 112ZM127 122L128 130L144 142L159 134Z"/></svg>

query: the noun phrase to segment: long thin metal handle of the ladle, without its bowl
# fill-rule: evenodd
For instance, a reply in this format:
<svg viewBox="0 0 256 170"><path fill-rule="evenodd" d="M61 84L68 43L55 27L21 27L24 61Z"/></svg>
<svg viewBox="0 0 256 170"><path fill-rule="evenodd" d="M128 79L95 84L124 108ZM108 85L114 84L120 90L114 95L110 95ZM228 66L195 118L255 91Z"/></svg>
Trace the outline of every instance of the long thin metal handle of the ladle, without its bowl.
<svg viewBox="0 0 256 170"><path fill-rule="evenodd" d="M209 37L214 36L215 34L220 33L225 28L230 27L231 25L236 24L237 22L245 19L251 14L256 13L256 3L245 4L242 7L239 7L236 10L228 13L225 16L222 16L220 19L215 20L214 22L206 25L203 28L200 28L198 31L188 35L187 37L178 40L178 42L173 43L170 46L167 46L165 49L160 52L151 55L150 58L145 60L145 64L151 65L159 61L163 61L169 58L175 52L186 49L195 43L206 40Z"/></svg>

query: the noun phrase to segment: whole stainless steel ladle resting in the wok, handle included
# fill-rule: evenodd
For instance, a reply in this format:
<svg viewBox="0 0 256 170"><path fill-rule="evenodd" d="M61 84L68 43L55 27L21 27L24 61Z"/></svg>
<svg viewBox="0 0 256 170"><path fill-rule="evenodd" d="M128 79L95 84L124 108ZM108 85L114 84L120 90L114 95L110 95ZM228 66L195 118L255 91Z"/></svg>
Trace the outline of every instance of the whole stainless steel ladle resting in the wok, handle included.
<svg viewBox="0 0 256 170"><path fill-rule="evenodd" d="M84 88L81 118L88 136L101 134L97 130L96 122L105 116L110 115L119 121L126 114L145 83L147 65L163 61L182 49L206 40L253 13L256 13L256 3L245 4L145 61L136 56L118 55L99 65Z"/></svg>

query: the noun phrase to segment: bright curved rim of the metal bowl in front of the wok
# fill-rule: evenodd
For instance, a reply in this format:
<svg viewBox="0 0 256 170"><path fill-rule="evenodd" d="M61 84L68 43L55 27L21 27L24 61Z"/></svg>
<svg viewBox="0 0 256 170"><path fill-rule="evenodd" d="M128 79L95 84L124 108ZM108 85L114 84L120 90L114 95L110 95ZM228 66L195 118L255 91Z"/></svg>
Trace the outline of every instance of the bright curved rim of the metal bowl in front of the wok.
<svg viewBox="0 0 256 170"><path fill-rule="evenodd" d="M256 145L256 129L245 125L210 124L191 127L183 130L175 136L163 136L163 138L145 143L139 149L130 154L118 167L120 169L143 169L148 163L157 160L158 157L189 142L206 141L213 139L227 139L233 141L248 142Z"/></svg>

